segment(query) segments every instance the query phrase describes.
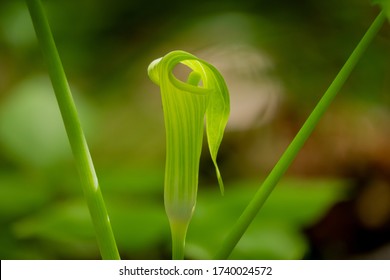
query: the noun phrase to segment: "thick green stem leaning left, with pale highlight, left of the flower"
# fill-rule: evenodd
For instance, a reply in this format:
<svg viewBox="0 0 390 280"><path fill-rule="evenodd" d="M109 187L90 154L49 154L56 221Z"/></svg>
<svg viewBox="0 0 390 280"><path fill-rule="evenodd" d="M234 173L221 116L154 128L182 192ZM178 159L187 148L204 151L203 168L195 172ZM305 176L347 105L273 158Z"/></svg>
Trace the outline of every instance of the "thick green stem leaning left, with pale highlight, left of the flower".
<svg viewBox="0 0 390 280"><path fill-rule="evenodd" d="M48 64L50 79L64 121L73 156L81 177L81 183L94 225L100 253L103 259L119 260L114 234L100 191L95 168L81 128L72 94L49 23L39 0L26 0L44 59Z"/></svg>

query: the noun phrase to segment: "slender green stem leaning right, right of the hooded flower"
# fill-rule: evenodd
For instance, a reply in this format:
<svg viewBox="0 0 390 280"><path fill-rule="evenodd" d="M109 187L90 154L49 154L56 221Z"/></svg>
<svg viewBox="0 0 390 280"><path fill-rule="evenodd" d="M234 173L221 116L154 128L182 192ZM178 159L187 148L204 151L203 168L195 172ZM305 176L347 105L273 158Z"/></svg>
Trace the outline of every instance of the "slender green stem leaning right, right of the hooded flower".
<svg viewBox="0 0 390 280"><path fill-rule="evenodd" d="M215 259L227 259L229 257L234 247L239 242L242 235L245 233L246 229L251 224L253 219L256 217L257 213L263 206L268 196L271 194L272 190L275 188L276 184L279 182L279 180L282 178L284 173L294 161L298 152L301 150L304 143L309 138L310 134L313 132L315 126L318 124L321 117L328 109L334 97L344 85L345 81L349 77L350 73L352 72L353 68L355 67L361 56L363 55L364 51L375 38L376 34L378 33L385 20L386 17L383 12L380 13L378 17L374 20L370 28L367 30L366 34L363 36L355 50L348 58L347 62L344 64L336 78L329 86L328 90L325 92L317 106L314 108L313 112L303 124L302 128L299 130L294 140L290 143L290 145L288 146L284 154L281 156L273 170L263 182L262 186L256 192L252 201L248 204L244 212L241 214L237 223L235 224L231 232L228 234L227 238L224 240L223 246L221 250L216 254Z"/></svg>

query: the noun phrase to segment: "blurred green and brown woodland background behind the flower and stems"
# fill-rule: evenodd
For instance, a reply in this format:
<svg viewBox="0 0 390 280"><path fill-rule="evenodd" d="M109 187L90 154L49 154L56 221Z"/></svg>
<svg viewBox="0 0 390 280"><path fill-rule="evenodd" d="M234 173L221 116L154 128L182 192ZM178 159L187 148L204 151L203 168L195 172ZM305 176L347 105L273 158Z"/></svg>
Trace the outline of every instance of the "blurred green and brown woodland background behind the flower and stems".
<svg viewBox="0 0 390 280"><path fill-rule="evenodd" d="M149 63L175 49L231 92L219 163L207 147L186 257L211 258L379 9L368 0L42 1L123 259L169 259L165 135ZM390 28L232 254L390 259ZM24 1L0 2L0 258L99 259Z"/></svg>

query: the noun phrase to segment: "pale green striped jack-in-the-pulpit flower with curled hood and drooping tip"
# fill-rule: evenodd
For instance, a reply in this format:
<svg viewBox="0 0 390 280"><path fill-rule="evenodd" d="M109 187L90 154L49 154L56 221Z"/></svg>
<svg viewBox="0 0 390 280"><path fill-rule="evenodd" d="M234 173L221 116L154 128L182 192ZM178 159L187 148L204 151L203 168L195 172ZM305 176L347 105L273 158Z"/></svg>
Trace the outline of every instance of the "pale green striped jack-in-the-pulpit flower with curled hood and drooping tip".
<svg viewBox="0 0 390 280"><path fill-rule="evenodd" d="M192 70L186 82L173 74L179 63ZM166 128L164 204L171 227L173 258L182 259L198 191L205 118L211 158L224 192L216 160L230 112L229 93L215 67L184 51L173 51L154 60L148 74L161 91Z"/></svg>

